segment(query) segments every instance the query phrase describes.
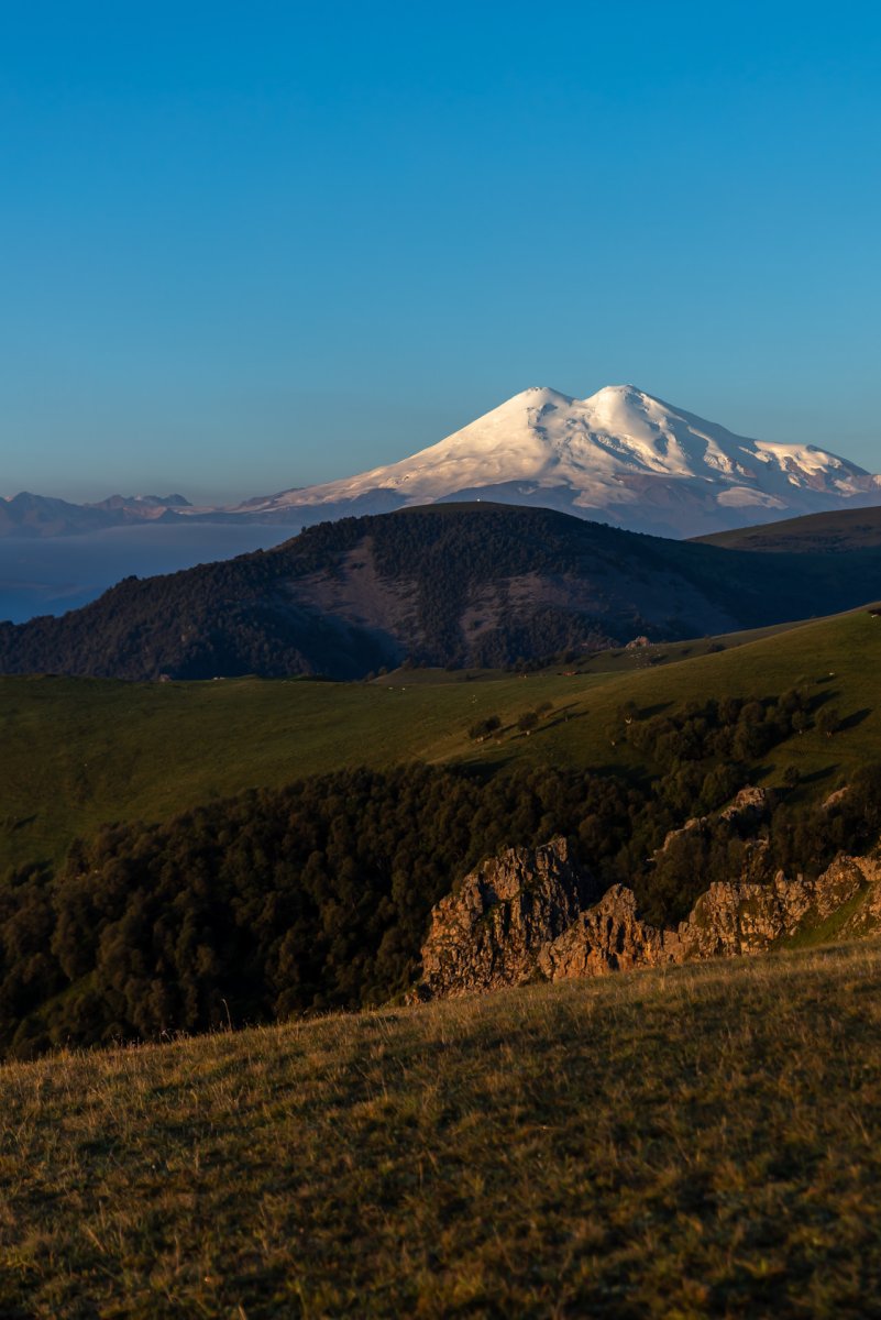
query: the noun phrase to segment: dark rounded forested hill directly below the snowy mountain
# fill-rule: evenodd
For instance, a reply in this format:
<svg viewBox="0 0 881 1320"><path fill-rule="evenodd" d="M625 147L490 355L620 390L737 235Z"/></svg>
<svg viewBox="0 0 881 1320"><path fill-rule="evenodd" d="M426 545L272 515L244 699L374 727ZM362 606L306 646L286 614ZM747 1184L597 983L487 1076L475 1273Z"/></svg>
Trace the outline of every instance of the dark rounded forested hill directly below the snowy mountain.
<svg viewBox="0 0 881 1320"><path fill-rule="evenodd" d="M356 678L405 657L504 665L703 636L881 595L881 548L762 554L539 508L438 504L309 528L272 550L125 578L62 618L0 624L0 672Z"/></svg>

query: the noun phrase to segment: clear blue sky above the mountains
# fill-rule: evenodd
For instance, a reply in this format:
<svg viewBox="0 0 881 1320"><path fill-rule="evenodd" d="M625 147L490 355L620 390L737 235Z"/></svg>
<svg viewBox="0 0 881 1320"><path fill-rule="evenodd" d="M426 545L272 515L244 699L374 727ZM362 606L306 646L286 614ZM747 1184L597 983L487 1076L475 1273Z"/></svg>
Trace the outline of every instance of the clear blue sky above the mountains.
<svg viewBox="0 0 881 1320"><path fill-rule="evenodd" d="M0 492L253 495L530 384L881 470L869 4L0 7Z"/></svg>

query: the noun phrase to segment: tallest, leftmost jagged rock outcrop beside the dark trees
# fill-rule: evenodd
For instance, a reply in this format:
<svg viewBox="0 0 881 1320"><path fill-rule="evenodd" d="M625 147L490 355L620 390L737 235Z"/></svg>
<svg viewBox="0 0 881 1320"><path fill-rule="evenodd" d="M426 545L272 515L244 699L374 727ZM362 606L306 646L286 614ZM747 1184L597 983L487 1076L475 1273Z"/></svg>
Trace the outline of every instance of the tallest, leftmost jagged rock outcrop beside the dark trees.
<svg viewBox="0 0 881 1320"><path fill-rule="evenodd" d="M563 838L535 850L512 847L484 862L431 913L419 997L529 981L542 945L567 931L595 896Z"/></svg>

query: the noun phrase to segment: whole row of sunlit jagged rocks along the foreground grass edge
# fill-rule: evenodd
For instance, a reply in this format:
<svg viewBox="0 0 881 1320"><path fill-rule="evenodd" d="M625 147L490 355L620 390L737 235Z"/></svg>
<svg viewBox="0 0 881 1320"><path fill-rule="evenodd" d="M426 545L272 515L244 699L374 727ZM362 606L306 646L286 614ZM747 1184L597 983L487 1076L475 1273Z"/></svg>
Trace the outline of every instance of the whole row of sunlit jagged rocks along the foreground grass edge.
<svg viewBox="0 0 881 1320"><path fill-rule="evenodd" d="M881 861L840 857L815 880L716 882L675 931L642 921L624 884L590 899L564 840L485 862L435 907L413 998L761 953L848 904L843 933L865 935L881 927Z"/></svg>

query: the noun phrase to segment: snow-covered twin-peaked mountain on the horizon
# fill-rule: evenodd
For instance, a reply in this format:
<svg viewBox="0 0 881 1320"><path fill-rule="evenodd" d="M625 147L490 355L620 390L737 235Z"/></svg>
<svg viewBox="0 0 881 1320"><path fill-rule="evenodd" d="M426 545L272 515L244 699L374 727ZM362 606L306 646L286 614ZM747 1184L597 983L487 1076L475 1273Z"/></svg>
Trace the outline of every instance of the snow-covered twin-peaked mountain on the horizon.
<svg viewBox="0 0 881 1320"><path fill-rule="evenodd" d="M532 388L411 458L252 499L235 512L303 527L454 499L542 504L696 536L878 503L881 477L814 445L736 436L634 385L607 385L587 399Z"/></svg>

